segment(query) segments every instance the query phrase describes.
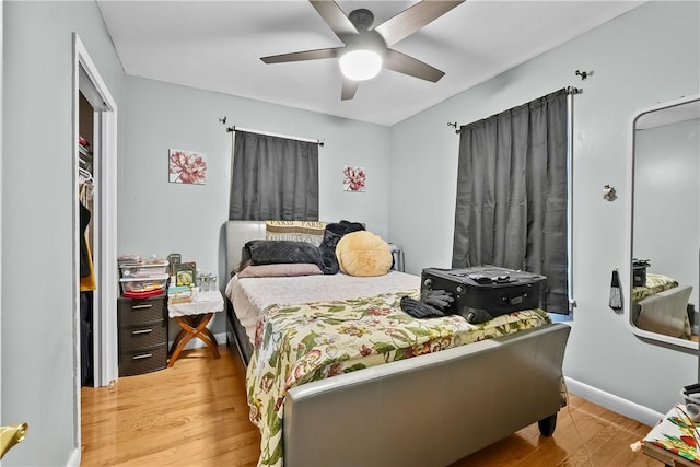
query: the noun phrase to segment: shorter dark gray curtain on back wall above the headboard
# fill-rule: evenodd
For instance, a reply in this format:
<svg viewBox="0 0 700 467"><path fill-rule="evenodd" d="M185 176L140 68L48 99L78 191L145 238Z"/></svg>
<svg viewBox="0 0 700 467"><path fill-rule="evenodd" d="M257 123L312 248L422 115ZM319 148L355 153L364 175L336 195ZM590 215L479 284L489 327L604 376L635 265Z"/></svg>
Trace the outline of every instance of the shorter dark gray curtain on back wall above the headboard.
<svg viewBox="0 0 700 467"><path fill-rule="evenodd" d="M318 143L236 130L229 219L317 221Z"/></svg>

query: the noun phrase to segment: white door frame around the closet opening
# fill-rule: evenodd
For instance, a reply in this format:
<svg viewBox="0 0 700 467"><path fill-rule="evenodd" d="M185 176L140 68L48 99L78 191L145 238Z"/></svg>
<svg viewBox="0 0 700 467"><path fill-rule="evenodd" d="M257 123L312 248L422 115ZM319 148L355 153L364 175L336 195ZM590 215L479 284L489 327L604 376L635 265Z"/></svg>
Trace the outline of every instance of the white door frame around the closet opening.
<svg viewBox="0 0 700 467"><path fill-rule="evenodd" d="M117 380L117 104L77 33L73 33L72 77L72 164L73 199L78 200L79 97L85 96L94 109L93 178L96 207L93 222L93 264L96 293L93 306L94 385L107 386ZM81 445L80 362L80 248L82 233L78 202L73 203L73 384L75 447ZM80 460L80 458L78 459Z"/></svg>

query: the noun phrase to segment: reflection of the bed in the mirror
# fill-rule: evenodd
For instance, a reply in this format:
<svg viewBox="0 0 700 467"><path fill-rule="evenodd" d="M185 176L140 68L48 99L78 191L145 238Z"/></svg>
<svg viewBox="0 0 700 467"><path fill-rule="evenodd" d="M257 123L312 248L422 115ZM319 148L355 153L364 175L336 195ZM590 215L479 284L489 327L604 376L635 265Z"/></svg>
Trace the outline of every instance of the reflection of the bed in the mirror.
<svg viewBox="0 0 700 467"><path fill-rule="evenodd" d="M632 288L632 320L640 329L690 339L688 301L692 285L648 272L644 285Z"/></svg>

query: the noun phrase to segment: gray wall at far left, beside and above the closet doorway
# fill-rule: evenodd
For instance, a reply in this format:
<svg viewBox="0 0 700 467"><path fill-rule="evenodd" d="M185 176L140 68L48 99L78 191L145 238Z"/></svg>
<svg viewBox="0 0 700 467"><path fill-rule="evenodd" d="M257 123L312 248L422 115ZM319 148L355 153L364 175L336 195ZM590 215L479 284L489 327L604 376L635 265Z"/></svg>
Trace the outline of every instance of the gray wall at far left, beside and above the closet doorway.
<svg viewBox="0 0 700 467"><path fill-rule="evenodd" d="M124 73L93 2L4 2L2 424L30 434L3 465L66 465L73 439L72 36L113 96Z"/></svg>

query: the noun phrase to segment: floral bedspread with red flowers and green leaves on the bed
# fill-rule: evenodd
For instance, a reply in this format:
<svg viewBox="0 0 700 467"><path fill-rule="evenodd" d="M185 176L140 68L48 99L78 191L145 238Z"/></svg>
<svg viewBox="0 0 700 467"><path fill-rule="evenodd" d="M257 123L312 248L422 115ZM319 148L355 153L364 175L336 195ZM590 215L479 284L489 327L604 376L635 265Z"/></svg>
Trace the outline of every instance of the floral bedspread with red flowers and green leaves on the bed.
<svg viewBox="0 0 700 467"><path fill-rule="evenodd" d="M551 323L527 310L470 325L462 316L416 319L399 306L418 290L366 299L270 305L247 369L250 421L260 429L258 466L281 466L284 395L294 386Z"/></svg>

